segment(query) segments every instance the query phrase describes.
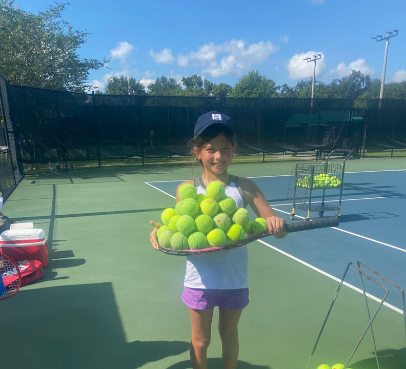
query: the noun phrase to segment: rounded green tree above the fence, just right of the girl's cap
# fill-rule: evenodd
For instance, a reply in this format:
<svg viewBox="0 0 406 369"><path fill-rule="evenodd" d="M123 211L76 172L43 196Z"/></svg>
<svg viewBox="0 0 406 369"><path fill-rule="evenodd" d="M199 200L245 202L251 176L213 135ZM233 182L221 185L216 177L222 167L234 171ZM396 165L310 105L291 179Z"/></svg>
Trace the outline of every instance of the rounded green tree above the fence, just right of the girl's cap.
<svg viewBox="0 0 406 369"><path fill-rule="evenodd" d="M231 90L231 97L276 97L275 81L261 75L257 70L242 76Z"/></svg>

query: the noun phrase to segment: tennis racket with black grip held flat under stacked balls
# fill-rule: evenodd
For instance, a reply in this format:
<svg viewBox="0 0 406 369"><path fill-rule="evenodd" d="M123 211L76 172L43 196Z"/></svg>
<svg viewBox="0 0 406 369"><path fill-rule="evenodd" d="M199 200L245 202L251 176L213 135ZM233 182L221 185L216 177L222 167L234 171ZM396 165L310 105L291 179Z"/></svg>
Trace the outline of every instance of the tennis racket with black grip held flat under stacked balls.
<svg viewBox="0 0 406 369"><path fill-rule="evenodd" d="M337 227L338 223L339 223L338 217L333 216L330 218L321 218L321 219L316 219L316 220L312 220L312 221L301 221L301 222L297 222L297 223L289 223L289 224L286 224L285 231L288 233L292 233L292 232L299 232L299 231L308 231L308 230L318 229L318 228ZM257 239L267 237L270 235L271 234L269 233L269 231L265 231L262 233L257 233L257 234L248 236L240 241L227 243L222 246L209 247L206 249L175 250L175 249L164 248L159 244L158 244L158 247L159 247L160 251L162 251L165 254L169 254L169 255L212 254L212 253L219 252L219 251L235 249L237 247L243 246L252 241L255 241Z"/></svg>

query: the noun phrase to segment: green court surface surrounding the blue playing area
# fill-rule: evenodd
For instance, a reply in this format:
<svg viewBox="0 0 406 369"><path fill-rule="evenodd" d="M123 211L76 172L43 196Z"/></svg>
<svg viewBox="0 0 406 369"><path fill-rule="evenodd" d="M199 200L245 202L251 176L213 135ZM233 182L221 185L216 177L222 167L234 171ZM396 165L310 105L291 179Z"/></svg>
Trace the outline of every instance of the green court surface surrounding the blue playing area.
<svg viewBox="0 0 406 369"><path fill-rule="evenodd" d="M289 175L291 168L236 164L230 172ZM347 172L404 168L402 158L346 163ZM159 220L174 199L145 182L199 174L156 166L26 176L2 212L45 230L50 263L42 279L0 301L1 368L190 368L189 314L180 299L186 260L149 243L149 220ZM239 324L237 368L304 369L338 282L260 242L248 248L250 304ZM373 312L378 303L370 303ZM222 367L217 317L215 311L211 369ZM367 322L362 295L343 286L309 367L345 363ZM402 324L387 306L374 321L381 368L404 367ZM370 333L350 364L377 367Z"/></svg>

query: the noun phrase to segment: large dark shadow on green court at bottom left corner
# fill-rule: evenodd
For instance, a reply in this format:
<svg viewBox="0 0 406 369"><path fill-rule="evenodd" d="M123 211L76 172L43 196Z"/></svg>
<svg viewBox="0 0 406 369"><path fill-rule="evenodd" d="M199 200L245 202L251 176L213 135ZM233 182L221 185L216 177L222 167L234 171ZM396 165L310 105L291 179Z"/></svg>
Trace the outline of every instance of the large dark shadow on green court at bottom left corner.
<svg viewBox="0 0 406 369"><path fill-rule="evenodd" d="M0 305L2 369L130 369L189 351L189 342L127 343L111 283L21 290Z"/></svg>

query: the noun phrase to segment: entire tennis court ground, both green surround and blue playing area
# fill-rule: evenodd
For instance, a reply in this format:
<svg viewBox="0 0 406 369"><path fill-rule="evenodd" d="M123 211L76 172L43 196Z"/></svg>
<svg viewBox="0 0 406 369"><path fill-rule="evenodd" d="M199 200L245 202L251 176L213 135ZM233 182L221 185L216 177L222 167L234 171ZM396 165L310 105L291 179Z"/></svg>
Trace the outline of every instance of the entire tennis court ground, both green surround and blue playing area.
<svg viewBox="0 0 406 369"><path fill-rule="evenodd" d="M232 165L252 177L289 222L306 216L286 200L293 163ZM49 238L45 276L0 301L2 369L186 369L188 308L180 295L185 258L152 250L149 220L173 206L179 181L199 175L190 167L103 168L26 176L3 212L32 221ZM346 165L338 229L273 237L249 245L250 304L239 324L237 367L305 368L321 324L349 262L359 260L406 288L402 234L406 191L404 159L350 160ZM327 192L328 201L338 194ZM326 212L324 216L334 215ZM317 216L312 214L312 216ZM309 367L346 362L368 323L359 273L350 269ZM381 281L380 281L381 282ZM382 291L365 280L371 296ZM399 290L390 290L373 328L380 367L406 362ZM371 314L378 301L368 299ZM209 367L221 367L217 316ZM13 342L13 344L10 344ZM350 362L375 368L370 332Z"/></svg>

